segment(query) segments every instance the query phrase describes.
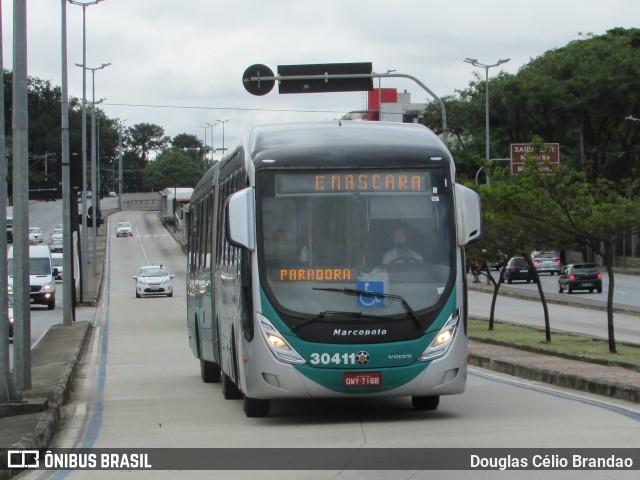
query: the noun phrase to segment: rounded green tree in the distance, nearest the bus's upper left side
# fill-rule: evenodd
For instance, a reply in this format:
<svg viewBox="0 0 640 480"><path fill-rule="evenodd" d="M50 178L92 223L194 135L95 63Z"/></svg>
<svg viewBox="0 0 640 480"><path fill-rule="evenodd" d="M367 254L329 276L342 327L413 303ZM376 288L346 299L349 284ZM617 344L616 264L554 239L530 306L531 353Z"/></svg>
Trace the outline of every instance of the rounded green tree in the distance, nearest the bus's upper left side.
<svg viewBox="0 0 640 480"><path fill-rule="evenodd" d="M144 170L145 188L195 187L204 168L199 159L175 148L165 150Z"/></svg>

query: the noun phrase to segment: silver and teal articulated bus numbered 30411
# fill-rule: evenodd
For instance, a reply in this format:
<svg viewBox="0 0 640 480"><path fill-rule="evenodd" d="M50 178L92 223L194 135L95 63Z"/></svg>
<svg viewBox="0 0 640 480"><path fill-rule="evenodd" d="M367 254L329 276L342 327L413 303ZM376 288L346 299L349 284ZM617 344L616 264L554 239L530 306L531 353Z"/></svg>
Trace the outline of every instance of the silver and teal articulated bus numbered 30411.
<svg viewBox="0 0 640 480"><path fill-rule="evenodd" d="M434 410L464 391L480 201L426 127L252 127L195 187L185 233L189 345L246 416L331 397Z"/></svg>

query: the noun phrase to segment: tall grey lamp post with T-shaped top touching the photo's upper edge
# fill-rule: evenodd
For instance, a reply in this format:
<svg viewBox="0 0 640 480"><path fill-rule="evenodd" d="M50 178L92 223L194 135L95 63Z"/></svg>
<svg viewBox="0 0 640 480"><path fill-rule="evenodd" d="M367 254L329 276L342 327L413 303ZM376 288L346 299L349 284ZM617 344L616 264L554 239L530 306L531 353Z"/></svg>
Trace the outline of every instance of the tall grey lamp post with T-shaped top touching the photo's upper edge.
<svg viewBox="0 0 640 480"><path fill-rule="evenodd" d="M80 2L77 0L67 0L71 5L80 5L82 7L82 248L81 248L81 265L80 265L80 300L82 300L82 292L87 286L87 253L89 250L87 237L87 216L84 212L87 210L87 7L97 5L103 0L92 0Z"/></svg>

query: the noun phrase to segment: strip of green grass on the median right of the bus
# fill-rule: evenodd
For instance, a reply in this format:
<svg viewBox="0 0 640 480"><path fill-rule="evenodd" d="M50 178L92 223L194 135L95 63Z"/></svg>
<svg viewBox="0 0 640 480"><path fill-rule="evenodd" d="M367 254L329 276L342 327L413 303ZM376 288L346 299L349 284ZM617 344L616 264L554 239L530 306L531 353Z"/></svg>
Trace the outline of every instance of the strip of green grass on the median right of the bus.
<svg viewBox="0 0 640 480"><path fill-rule="evenodd" d="M617 353L610 353L606 340L586 335L552 331L551 342L547 342L544 330L537 328L498 322L494 322L493 328L489 330L487 320L469 319L469 338L640 371L640 347L637 346L617 343Z"/></svg>

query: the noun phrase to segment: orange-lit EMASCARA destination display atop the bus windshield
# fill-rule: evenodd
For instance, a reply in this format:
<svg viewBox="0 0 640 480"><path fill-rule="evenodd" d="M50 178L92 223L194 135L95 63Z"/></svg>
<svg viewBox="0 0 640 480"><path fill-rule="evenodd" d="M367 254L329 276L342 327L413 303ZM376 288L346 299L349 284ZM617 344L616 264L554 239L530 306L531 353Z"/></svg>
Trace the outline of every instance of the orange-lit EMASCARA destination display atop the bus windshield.
<svg viewBox="0 0 640 480"><path fill-rule="evenodd" d="M428 172L370 171L282 173L276 177L278 195L304 193L426 193Z"/></svg>

